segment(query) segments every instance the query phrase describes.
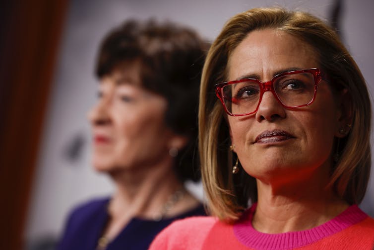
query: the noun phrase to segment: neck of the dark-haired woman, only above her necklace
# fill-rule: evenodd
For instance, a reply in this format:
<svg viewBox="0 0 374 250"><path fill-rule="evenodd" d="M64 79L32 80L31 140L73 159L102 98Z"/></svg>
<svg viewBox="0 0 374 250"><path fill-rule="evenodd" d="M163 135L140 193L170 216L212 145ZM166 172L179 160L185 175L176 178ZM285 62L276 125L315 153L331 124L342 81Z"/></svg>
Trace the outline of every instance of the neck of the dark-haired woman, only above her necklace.
<svg viewBox="0 0 374 250"><path fill-rule="evenodd" d="M183 186L172 169L171 160L112 173L116 192L109 205L111 216L123 217L126 211L129 218L152 218L168 197Z"/></svg>

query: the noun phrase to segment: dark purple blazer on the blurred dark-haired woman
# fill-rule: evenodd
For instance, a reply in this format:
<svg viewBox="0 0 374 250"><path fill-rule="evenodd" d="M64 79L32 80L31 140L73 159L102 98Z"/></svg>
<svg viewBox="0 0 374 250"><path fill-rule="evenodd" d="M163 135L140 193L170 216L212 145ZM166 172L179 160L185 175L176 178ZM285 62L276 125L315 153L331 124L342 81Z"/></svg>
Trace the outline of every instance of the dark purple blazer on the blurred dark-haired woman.
<svg viewBox="0 0 374 250"><path fill-rule="evenodd" d="M95 199L75 208L68 217L58 250L95 250L108 221L110 198ZM153 238L170 223L190 216L206 215L200 204L187 213L160 221L132 218L106 250L147 250Z"/></svg>

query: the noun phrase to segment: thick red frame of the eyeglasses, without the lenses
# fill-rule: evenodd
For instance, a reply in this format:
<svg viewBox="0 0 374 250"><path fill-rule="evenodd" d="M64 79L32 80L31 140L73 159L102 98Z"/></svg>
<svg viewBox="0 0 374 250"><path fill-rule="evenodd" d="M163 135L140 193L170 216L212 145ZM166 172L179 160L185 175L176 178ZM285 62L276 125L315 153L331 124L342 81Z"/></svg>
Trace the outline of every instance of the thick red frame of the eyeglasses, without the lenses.
<svg viewBox="0 0 374 250"><path fill-rule="evenodd" d="M276 92L274 91L274 80L276 80L277 78L279 77L282 77L282 76L286 76L286 75L293 75L293 74L299 74L299 73L311 73L314 77L314 94L313 94L313 98L312 100L307 103L307 104L302 104L302 105L297 105L297 106L286 106L278 97L278 95L276 94ZM229 82L225 82L225 83L218 83L218 84L215 84L214 85L214 88L216 90L216 95L217 97L219 98L219 100L221 101L223 107L225 108L225 111L226 113L228 113L229 115L231 116L243 116L243 115L250 115L250 114L254 114L257 112L258 110L258 106L260 105L261 103L261 100L262 100L262 95L264 92L266 91L271 91L275 97L275 99L277 99L277 101L285 108L298 108L298 107L303 107L303 106L308 106L310 104L313 103L314 99L315 99L315 95L317 93L317 88L318 88L318 83L321 82L322 80L322 72L317 69L317 68L313 68L313 69L307 69L307 70L299 70L299 71L289 71L289 72L285 72L285 73L281 73L281 74L278 74L276 75L275 77L273 77L272 80L268 81L268 82L261 82L259 81L258 79L251 79L251 78L248 78L248 79L241 79L241 80L235 80L235 81L229 81ZM241 82L246 82L246 81L253 81L253 82L256 82L258 83L259 87L260 87L260 98L258 99L258 104L257 104L257 107L256 109L253 111L253 112L249 112L249 113L244 113L244 114L232 114L231 112L229 112L229 110L227 109L226 107L226 104L225 104L225 97L224 97L224 94L223 94L223 87L224 86L227 86L227 85L230 85L230 84L234 84L234 83L241 83Z"/></svg>

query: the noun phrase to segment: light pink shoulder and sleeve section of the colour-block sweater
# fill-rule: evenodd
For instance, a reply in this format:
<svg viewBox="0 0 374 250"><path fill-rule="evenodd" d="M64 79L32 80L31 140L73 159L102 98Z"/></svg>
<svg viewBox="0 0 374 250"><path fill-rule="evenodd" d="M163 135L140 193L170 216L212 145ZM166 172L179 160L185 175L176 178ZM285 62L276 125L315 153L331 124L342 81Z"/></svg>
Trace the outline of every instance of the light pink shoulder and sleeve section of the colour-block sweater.
<svg viewBox="0 0 374 250"><path fill-rule="evenodd" d="M199 250L215 222L207 216L175 221L156 236L149 250Z"/></svg>

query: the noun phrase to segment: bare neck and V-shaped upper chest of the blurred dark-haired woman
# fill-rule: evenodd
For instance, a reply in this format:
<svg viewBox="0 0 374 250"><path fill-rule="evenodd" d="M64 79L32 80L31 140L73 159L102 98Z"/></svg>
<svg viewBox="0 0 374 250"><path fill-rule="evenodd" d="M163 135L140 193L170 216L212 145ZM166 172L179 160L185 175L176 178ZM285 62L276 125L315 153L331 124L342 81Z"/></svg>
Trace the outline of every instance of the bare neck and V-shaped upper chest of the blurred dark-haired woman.
<svg viewBox="0 0 374 250"><path fill-rule="evenodd" d="M133 217L149 220L160 215L171 217L197 206L198 201L184 193L165 211L165 203L183 188L172 163L173 159L167 157L156 165L111 173L116 192L108 206L110 219L103 232L105 238L115 238Z"/></svg>

